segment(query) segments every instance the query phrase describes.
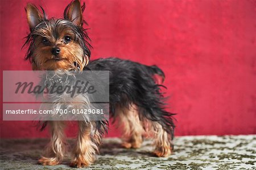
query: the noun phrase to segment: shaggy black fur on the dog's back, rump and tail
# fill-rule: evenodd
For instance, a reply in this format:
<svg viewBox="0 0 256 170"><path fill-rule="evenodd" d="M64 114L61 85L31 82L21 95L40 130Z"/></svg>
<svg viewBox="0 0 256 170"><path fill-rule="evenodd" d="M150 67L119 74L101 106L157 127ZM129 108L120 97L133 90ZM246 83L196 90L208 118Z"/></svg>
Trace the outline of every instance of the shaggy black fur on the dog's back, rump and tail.
<svg viewBox="0 0 256 170"><path fill-rule="evenodd" d="M164 110L166 103L160 92L161 85L157 85L152 77L159 74L164 80L165 76L161 69L155 65L146 66L129 60L108 58L91 61L84 70L110 72L109 100L112 117L118 117L117 109L130 109L131 106L136 106L142 126L145 128L147 121L152 124L159 123L169 135L168 140L171 142L174 138L174 114Z"/></svg>

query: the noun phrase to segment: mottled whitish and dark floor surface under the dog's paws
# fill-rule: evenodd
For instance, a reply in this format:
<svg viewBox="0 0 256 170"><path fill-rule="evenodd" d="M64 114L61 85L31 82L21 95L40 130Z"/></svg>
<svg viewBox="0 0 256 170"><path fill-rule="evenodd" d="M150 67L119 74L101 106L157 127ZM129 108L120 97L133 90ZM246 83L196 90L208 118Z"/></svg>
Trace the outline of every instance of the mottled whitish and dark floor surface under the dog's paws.
<svg viewBox="0 0 256 170"><path fill-rule="evenodd" d="M74 169L68 158L56 166L37 164L47 141L1 139L0 169ZM126 150L119 139L105 139L97 161L81 169L256 169L256 135L177 137L174 155L166 158L154 157L152 150L148 140Z"/></svg>

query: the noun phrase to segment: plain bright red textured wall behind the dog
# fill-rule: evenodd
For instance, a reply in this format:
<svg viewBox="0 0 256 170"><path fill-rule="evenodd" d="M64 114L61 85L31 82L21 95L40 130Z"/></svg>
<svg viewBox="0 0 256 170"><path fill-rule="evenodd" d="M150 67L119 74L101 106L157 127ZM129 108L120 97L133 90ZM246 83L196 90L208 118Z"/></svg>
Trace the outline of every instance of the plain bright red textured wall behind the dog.
<svg viewBox="0 0 256 170"><path fill-rule="evenodd" d="M1 70L31 69L20 49L26 2L1 1ZM61 17L70 1L31 2ZM163 69L176 135L256 133L256 1L88 0L84 16L91 59L117 56ZM111 126L109 136L118 134ZM1 136L47 132L32 122L1 121Z"/></svg>

